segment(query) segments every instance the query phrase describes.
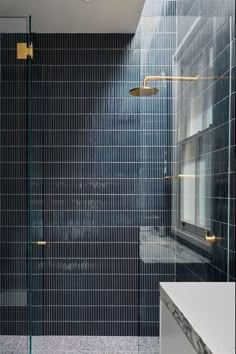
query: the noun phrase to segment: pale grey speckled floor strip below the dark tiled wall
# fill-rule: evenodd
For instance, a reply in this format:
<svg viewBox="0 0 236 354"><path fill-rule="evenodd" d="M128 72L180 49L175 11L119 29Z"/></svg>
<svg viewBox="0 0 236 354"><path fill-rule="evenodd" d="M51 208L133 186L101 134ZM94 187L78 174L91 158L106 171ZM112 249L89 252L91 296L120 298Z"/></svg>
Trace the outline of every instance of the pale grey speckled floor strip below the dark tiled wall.
<svg viewBox="0 0 236 354"><path fill-rule="evenodd" d="M33 354L159 354L157 337L33 337ZM29 340L0 336L1 354L28 354Z"/></svg>

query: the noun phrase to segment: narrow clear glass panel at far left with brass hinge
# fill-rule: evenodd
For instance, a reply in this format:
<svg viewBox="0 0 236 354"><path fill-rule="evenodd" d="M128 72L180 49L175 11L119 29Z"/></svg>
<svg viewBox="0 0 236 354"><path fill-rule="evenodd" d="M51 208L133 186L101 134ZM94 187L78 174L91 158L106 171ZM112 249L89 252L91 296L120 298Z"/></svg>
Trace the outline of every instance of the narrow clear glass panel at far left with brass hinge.
<svg viewBox="0 0 236 354"><path fill-rule="evenodd" d="M31 352L30 18L0 17L0 346ZM18 43L22 47L18 47ZM18 48L18 50L17 50ZM27 50L26 50L27 51Z"/></svg>

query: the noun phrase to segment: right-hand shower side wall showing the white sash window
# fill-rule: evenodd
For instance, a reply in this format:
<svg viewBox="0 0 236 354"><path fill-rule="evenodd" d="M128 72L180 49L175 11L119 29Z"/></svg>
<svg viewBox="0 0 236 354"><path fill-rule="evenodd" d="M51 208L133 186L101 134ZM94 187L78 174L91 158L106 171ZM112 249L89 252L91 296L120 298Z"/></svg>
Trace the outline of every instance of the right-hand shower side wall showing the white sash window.
<svg viewBox="0 0 236 354"><path fill-rule="evenodd" d="M232 1L219 1L213 10L207 3L189 13L191 2L186 1L177 13L176 75L199 76L197 83L175 84L172 233L184 245L182 258L180 252L176 254L178 281L235 278L235 5Z"/></svg>

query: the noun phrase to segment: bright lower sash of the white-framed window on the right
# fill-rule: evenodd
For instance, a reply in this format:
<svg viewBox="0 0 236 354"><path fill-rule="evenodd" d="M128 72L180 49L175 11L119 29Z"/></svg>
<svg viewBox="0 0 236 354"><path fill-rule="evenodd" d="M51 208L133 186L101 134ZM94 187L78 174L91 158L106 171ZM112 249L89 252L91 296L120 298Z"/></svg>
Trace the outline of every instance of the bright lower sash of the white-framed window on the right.
<svg viewBox="0 0 236 354"><path fill-rule="evenodd" d="M182 143L180 153L179 227L198 235L202 235L203 228L211 227L211 159L207 153L210 142L207 134L205 137L196 134L194 139Z"/></svg>

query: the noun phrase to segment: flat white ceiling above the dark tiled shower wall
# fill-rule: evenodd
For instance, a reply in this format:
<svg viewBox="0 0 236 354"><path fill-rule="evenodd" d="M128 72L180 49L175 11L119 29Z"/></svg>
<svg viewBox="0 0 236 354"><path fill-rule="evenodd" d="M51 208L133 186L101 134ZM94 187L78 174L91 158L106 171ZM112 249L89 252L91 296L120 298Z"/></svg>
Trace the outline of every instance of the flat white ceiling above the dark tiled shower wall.
<svg viewBox="0 0 236 354"><path fill-rule="evenodd" d="M0 16L32 15L33 32L135 32L145 0L0 0ZM0 18L1 21L1 18Z"/></svg>

